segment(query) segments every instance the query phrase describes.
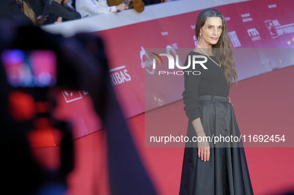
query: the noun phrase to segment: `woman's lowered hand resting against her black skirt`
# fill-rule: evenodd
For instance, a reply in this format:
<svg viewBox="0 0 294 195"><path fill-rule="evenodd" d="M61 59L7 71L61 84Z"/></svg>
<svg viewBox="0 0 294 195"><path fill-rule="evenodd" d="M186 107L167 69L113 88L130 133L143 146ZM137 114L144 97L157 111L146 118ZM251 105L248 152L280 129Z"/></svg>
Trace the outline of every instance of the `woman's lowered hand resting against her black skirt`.
<svg viewBox="0 0 294 195"><path fill-rule="evenodd" d="M205 137L204 131L196 132L197 134L197 146L198 146L198 157L204 162L209 160L210 147L207 138Z"/></svg>

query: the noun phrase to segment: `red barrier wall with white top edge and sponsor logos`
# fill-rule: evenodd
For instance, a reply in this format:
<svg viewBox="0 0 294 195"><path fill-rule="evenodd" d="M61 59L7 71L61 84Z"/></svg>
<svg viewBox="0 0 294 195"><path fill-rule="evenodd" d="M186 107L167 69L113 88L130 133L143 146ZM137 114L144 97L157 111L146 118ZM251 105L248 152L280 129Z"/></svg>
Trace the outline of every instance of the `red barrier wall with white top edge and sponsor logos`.
<svg viewBox="0 0 294 195"><path fill-rule="evenodd" d="M145 72L149 74L152 71L152 58L145 53L145 48L195 48L196 17L200 9L208 7L218 9L225 16L234 48L254 48L248 50L251 58L242 52L234 54L239 80L294 65L293 57L287 53L290 50L286 50L286 53L285 50L279 50L277 53L277 50L261 49L294 48L293 0L223 0L209 1L209 4L207 1L180 0L146 6L142 13L125 10L48 25L43 29L62 33L66 37L83 29L103 38L110 64L111 82L125 117L129 118L146 110L144 76ZM156 88L157 99L150 98L155 103L151 102L152 106L147 110L181 99L179 94L166 94L160 86L157 85ZM184 84L175 83L175 87L176 91L183 91ZM74 98L65 92L60 94L57 115L72 119L75 138L99 130L101 124L88 104L87 92L73 94ZM158 104L158 99L163 102ZM54 135L47 138L54 140ZM57 141L55 143L59 144Z"/></svg>

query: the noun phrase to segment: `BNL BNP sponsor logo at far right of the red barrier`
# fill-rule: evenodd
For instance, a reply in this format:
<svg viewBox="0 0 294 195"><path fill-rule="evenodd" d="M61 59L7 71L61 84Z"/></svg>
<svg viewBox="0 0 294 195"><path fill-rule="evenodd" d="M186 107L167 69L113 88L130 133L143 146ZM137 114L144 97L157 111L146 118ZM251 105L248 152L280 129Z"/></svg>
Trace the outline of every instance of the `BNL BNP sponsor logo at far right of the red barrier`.
<svg viewBox="0 0 294 195"><path fill-rule="evenodd" d="M281 25L279 20L266 20L265 24L271 37L277 38L281 35L294 33L294 23Z"/></svg>

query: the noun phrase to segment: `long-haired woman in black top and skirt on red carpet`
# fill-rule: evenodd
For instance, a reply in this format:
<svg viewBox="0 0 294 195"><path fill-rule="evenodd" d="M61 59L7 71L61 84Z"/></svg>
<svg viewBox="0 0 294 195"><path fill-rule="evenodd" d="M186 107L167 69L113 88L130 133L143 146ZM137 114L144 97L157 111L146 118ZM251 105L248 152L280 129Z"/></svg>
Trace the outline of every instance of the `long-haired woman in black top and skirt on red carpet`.
<svg viewBox="0 0 294 195"><path fill-rule="evenodd" d="M189 140L197 137L197 142L186 142L180 195L253 195L242 140L214 142L220 136L240 137L228 98L233 79L237 84L237 73L223 15L216 9L201 11L196 37L199 43L187 56L186 65L197 55L206 57L207 69L191 65L189 70L200 74L185 74L187 136ZM198 61L203 61L200 57Z"/></svg>

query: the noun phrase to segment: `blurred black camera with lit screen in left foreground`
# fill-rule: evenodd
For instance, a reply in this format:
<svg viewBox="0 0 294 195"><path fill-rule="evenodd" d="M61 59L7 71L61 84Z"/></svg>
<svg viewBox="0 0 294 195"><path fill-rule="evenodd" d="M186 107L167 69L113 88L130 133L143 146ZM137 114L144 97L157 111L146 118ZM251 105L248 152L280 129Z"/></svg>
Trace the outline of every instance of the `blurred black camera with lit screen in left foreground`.
<svg viewBox="0 0 294 195"><path fill-rule="evenodd" d="M74 38L53 35L39 27L0 26L1 149L5 159L1 167L8 178L3 186L24 195L51 182L66 186L66 176L74 168L72 126L54 118L56 102L51 91L83 89L88 82L81 62L89 54ZM27 135L43 128L58 130L61 136L60 166L56 170L38 165L32 156ZM12 187L15 182L21 184L19 192Z"/></svg>

